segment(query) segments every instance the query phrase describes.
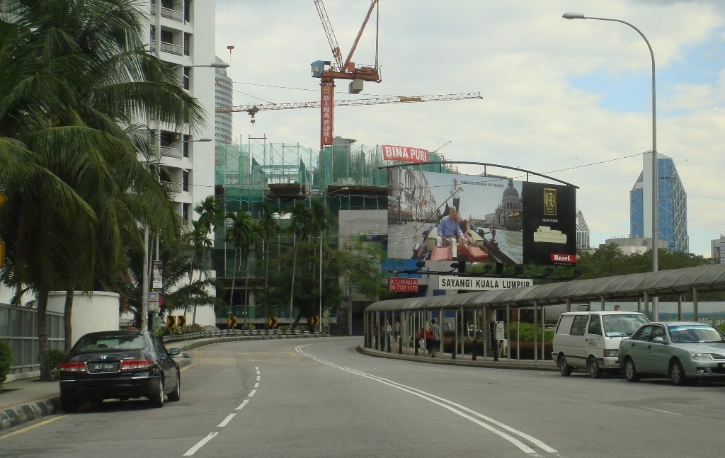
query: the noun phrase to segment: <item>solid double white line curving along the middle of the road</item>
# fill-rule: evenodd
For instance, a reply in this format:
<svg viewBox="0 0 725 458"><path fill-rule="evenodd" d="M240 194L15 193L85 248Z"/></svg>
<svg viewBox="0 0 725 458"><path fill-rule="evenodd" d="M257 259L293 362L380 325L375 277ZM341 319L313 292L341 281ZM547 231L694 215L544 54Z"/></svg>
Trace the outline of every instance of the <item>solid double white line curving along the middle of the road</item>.
<svg viewBox="0 0 725 458"><path fill-rule="evenodd" d="M305 345L309 345L309 343L307 343ZM305 346L305 345L297 346L297 348L295 350L297 352L301 353L301 354L304 354L306 357L309 357L311 359L315 359L315 361L321 362L321 363L323 363L325 365L328 365L328 366L331 366L331 367L336 367L336 368L338 368L340 370L344 370L344 371L347 371L347 372L351 372L353 374L360 375L360 376L365 377L365 378L370 378L371 380L376 380L377 382L383 383L384 385L392 386L393 388L397 388L397 389L399 389L401 391L405 391L407 393L413 394L414 396L418 396L418 397L423 398L423 399L426 399L427 401L430 401L430 402L432 402L434 404L437 404L437 405L439 405L441 407L444 407L445 409L448 409L451 412L454 412L455 414L460 415L461 417L464 417L467 420L470 420L471 422L476 423L477 425L481 426L482 428L485 428L485 429L491 431L492 433L496 434L497 436L500 436L501 438L504 438L505 440L507 440L511 444L517 446L518 449L521 449L521 451L523 451L523 452L525 452L527 454L536 454L537 451L535 451L534 449L531 449L526 444L523 444L523 442L519 441L517 438L514 438L514 437L508 435L507 433L504 433L501 430L497 430L492 425L487 425L484 422L481 422L479 420L476 420L475 418L473 418L470 415L467 415L467 414L465 414L464 412L461 412L461 411L469 412L472 415L475 415L476 417L482 418L483 420L486 420L487 422L490 422L490 423L492 423L494 425L497 425L498 427L500 427L502 429L508 430L510 433L513 433L516 436L519 436L519 437L521 437L523 439L526 439L526 441L531 442L531 444L534 444L535 446L538 446L539 448L543 449L544 451L547 451L548 453L558 453L558 451L556 449L553 449L552 447L548 446L547 444L544 444L544 442L540 441L537 438L534 438L533 436L529 436L529 434L523 433L523 431L520 431L520 430L517 430L515 428L512 428L509 425L505 425L504 423L499 422L497 420L494 420L491 417L486 417L486 415L483 415L483 414L481 414L479 412L476 412L476 411L474 411L472 409L468 409L468 407L464 407L464 406L462 406L460 404L456 404L455 402L450 401L448 399L444 399L444 398L441 398L439 396L435 396L434 394L426 393L426 391L418 390L418 388L413 388L412 386L402 385L402 383L397 383L397 382L394 382L393 380L388 380L386 378L381 378L381 377L378 377L376 375L368 374L367 372L362 372L362 371L359 371L359 370L350 369L349 367L343 367L343 366L340 366L340 365L336 365L336 364L334 364L332 362L327 362L327 361L325 361L323 359L319 359L318 357L314 357L311 354L307 354L307 353L305 353L305 351L302 350L302 347ZM444 403L447 403L447 404L450 404L450 405L446 405Z"/></svg>

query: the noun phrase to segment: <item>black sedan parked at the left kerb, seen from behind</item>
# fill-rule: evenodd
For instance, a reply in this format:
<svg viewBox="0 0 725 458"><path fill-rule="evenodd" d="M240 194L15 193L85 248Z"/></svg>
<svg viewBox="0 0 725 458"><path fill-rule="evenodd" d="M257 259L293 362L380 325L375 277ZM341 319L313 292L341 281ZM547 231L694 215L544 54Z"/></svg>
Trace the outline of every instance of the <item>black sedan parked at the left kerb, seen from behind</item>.
<svg viewBox="0 0 725 458"><path fill-rule="evenodd" d="M104 399L146 397L163 407L164 397L178 401L181 378L173 356L161 338L140 330L88 333L78 339L60 365L60 401L73 412L85 399L100 404Z"/></svg>

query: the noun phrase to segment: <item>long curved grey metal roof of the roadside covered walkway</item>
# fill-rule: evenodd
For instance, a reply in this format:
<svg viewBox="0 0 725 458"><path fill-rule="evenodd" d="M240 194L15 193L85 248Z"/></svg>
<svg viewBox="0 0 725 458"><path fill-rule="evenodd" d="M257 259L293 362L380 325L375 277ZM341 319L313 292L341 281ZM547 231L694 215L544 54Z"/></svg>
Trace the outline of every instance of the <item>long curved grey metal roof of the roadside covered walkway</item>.
<svg viewBox="0 0 725 458"><path fill-rule="evenodd" d="M534 304L565 304L567 300L597 301L605 299L632 299L661 294L692 293L697 291L724 291L725 265L684 267L660 272L635 273L616 277L572 280L525 288L478 291L475 293L447 294L445 296L414 297L377 301L365 308L366 312L391 310L478 309L488 307L530 307Z"/></svg>

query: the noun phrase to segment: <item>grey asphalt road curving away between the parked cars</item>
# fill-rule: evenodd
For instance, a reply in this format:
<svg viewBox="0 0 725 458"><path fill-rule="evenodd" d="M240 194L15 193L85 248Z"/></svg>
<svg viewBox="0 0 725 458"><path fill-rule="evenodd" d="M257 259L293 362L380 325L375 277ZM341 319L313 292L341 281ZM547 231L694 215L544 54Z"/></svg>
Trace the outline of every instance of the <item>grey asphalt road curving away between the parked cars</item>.
<svg viewBox="0 0 725 458"><path fill-rule="evenodd" d="M364 356L360 338L193 351L181 401L106 401L0 435L0 457L711 457L725 385Z"/></svg>

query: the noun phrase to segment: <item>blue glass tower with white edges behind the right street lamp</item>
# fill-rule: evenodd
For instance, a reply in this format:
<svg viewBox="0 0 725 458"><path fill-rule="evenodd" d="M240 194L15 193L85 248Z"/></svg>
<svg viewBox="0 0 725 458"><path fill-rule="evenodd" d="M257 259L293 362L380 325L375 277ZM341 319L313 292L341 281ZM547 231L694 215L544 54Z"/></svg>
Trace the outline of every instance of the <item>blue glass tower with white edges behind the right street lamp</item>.
<svg viewBox="0 0 725 458"><path fill-rule="evenodd" d="M687 236L687 193L684 191L674 161L664 154L657 154L657 232L660 240L667 242L667 251L689 252ZM645 172L647 172L645 170ZM647 238L651 226L645 217L644 173L629 191L629 236ZM650 213L651 215L651 213ZM651 220L651 217L650 217ZM645 232L647 231L647 232Z"/></svg>

